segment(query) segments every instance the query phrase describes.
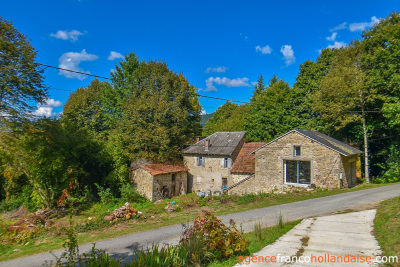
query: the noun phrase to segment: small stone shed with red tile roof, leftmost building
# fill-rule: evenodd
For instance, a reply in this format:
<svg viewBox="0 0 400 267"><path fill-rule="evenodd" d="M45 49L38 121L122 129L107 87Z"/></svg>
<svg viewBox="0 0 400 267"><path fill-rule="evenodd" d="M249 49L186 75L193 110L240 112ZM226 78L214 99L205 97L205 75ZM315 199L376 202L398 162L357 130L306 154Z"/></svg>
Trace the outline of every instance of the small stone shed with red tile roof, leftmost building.
<svg viewBox="0 0 400 267"><path fill-rule="evenodd" d="M139 194L150 201L187 192L188 168L169 164L144 164L132 170L132 182Z"/></svg>

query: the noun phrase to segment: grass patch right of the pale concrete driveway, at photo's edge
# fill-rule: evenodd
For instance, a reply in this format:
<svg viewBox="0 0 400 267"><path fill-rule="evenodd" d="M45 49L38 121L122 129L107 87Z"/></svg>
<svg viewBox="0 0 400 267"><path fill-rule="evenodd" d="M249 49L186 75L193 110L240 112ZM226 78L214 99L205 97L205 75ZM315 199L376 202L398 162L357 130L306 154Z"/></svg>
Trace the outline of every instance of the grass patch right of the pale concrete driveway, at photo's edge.
<svg viewBox="0 0 400 267"><path fill-rule="evenodd" d="M400 260L400 197L380 203L374 220L375 237L383 256L397 256ZM388 264L400 266L400 263Z"/></svg>

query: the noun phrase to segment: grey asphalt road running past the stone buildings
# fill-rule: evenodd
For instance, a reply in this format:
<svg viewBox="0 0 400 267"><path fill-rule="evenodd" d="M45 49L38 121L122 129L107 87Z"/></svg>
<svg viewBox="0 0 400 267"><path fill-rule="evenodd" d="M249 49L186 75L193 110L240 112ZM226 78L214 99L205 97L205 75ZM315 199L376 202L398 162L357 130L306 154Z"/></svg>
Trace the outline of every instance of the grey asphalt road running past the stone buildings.
<svg viewBox="0 0 400 267"><path fill-rule="evenodd" d="M238 226L242 225L244 231L248 232L254 229L254 223L258 221L261 221L264 227L275 225L280 213L282 213L285 221L295 221L309 217L328 215L342 210L370 209L380 201L397 196L400 196L400 184L232 213L220 216L220 218L225 223L233 219ZM96 248L106 250L112 257L122 257L128 261L132 259L134 250L146 248L153 243L176 244L181 234L182 226L178 224L102 240L96 243ZM92 244L84 244L79 246L79 251L80 253L89 252L91 248ZM0 267L42 266L46 260L55 261L54 255L59 256L62 251L63 250L45 252L0 262Z"/></svg>

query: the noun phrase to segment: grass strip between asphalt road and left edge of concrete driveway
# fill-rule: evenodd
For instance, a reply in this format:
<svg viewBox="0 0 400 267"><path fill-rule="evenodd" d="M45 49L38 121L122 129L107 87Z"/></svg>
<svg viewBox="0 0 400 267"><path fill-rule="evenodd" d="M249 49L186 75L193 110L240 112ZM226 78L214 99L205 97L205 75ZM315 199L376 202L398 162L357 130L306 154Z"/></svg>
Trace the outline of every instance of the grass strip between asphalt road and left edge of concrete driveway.
<svg viewBox="0 0 400 267"><path fill-rule="evenodd" d="M292 230L292 228L295 227L300 222L301 222L301 220L283 224L282 227L280 227L279 225L276 225L273 227L264 228L261 230L261 238L259 238L260 237L259 231L254 231L254 232L243 234L243 237L250 241L250 243L248 245L248 250L249 250L248 255L258 252L263 247L274 243L281 236L283 236L284 234L286 234L287 232ZM235 264L237 264L238 260L239 260L239 256L235 256L235 257L232 257L225 261L215 261L208 266L210 266L210 267L231 267L231 266L234 266Z"/></svg>

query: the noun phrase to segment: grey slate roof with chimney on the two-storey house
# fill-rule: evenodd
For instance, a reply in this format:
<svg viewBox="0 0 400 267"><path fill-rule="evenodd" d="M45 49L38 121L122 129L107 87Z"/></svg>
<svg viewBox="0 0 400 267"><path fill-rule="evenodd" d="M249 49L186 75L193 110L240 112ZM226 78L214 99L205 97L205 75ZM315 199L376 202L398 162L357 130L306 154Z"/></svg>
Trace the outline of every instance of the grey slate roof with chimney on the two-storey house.
<svg viewBox="0 0 400 267"><path fill-rule="evenodd" d="M245 137L246 132L216 132L203 140L185 148L183 154L232 156L233 151ZM205 140L210 140L210 148L205 150Z"/></svg>

